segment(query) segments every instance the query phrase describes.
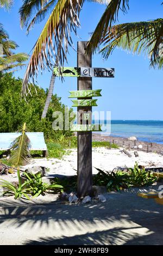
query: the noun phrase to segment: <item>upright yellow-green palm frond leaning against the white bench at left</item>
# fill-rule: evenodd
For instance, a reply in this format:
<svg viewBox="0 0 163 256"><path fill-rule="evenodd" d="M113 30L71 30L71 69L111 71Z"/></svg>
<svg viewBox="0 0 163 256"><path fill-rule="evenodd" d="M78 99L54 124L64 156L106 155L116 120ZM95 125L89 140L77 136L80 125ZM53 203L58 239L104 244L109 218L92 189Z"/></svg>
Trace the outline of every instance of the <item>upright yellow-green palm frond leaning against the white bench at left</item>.
<svg viewBox="0 0 163 256"><path fill-rule="evenodd" d="M10 150L13 151L10 162L15 166L21 166L29 162L30 156L30 139L26 134L26 123L24 123L21 131L21 135L18 136L12 143Z"/></svg>

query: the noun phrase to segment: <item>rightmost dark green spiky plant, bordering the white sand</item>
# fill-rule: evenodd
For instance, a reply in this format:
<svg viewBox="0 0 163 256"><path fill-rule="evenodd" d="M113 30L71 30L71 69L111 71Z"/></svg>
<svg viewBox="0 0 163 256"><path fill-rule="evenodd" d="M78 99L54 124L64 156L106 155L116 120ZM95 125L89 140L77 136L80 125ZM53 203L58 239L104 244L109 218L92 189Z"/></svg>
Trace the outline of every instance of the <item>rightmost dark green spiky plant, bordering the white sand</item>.
<svg viewBox="0 0 163 256"><path fill-rule="evenodd" d="M146 171L145 167L139 168L135 162L134 168L127 168L130 175L129 183L134 187L142 187L153 184L156 177L150 171Z"/></svg>

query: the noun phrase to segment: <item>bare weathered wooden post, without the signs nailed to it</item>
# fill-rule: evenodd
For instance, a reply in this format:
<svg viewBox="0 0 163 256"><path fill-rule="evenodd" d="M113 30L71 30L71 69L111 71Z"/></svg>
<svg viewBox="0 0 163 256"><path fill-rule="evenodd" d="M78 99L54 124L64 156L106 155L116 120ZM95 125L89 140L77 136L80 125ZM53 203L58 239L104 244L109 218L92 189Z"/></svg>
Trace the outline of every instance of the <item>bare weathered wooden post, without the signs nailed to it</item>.
<svg viewBox="0 0 163 256"><path fill-rule="evenodd" d="M87 42L78 42L78 67L91 67L92 56L85 55ZM92 90L91 77L78 77L78 90ZM80 98L81 99L81 98ZM90 97L90 99L92 99ZM82 124L82 113L92 112L92 107L78 107L78 124ZM92 119L92 118L91 118ZM89 120L92 121L92 120ZM78 140L78 197L92 196L92 132L77 132Z"/></svg>

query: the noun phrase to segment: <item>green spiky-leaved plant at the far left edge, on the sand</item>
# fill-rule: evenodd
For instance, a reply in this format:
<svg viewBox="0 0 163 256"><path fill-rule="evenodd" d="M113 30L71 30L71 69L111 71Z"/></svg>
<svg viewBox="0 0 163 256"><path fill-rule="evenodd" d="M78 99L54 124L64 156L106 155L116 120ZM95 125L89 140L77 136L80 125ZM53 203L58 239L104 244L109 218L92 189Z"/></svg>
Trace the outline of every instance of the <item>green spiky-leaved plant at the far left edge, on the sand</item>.
<svg viewBox="0 0 163 256"><path fill-rule="evenodd" d="M26 199L30 200L29 198L29 188L27 188L28 181L25 181L21 184L21 177L20 177L20 170L17 170L17 178L18 178L18 185L12 184L7 180L0 179L0 187L3 188L3 196L15 196L15 199L20 199L21 197L25 197Z"/></svg>

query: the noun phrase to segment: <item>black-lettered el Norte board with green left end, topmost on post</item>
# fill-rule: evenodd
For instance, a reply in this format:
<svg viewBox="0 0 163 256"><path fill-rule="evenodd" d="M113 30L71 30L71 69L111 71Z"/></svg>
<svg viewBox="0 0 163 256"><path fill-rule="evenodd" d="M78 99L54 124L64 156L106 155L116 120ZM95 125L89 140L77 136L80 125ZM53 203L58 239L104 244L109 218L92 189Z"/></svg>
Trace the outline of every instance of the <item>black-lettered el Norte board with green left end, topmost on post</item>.
<svg viewBox="0 0 163 256"><path fill-rule="evenodd" d="M71 76L71 77L110 77L114 78L114 68L54 68L54 76Z"/></svg>

